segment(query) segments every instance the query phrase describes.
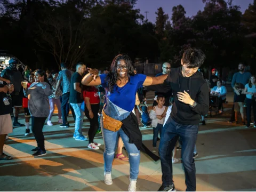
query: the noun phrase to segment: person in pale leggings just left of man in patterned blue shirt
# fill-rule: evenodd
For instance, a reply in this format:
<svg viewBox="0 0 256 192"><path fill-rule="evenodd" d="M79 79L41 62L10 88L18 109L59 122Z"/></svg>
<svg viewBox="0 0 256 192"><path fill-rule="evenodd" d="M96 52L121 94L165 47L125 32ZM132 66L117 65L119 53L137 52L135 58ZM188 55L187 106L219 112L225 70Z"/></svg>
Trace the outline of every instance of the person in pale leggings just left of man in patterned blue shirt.
<svg viewBox="0 0 256 192"><path fill-rule="evenodd" d="M57 85L57 77L59 75L58 71L53 70L50 74L50 78L48 79L49 82L52 85L52 90L54 91L50 96L49 96L49 103L50 103L50 114L48 117L47 125L52 126L51 118L53 115L54 111L54 106L56 105L58 108L58 117L59 117L59 123L62 124L62 119L61 119L61 104L60 104L60 96L62 95L61 90L55 90L56 85Z"/></svg>

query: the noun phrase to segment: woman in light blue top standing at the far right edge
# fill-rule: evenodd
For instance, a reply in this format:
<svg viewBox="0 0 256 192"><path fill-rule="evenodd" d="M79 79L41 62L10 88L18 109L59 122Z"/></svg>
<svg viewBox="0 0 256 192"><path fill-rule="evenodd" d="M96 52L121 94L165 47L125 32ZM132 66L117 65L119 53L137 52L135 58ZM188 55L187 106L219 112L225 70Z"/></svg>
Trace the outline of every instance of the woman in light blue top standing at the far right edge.
<svg viewBox="0 0 256 192"><path fill-rule="evenodd" d="M247 124L246 128L250 126L251 123L251 108L253 109L253 116L254 116L254 127L256 127L256 82L255 76L252 75L249 79L249 83L245 85L244 94L246 94L246 117L247 117Z"/></svg>

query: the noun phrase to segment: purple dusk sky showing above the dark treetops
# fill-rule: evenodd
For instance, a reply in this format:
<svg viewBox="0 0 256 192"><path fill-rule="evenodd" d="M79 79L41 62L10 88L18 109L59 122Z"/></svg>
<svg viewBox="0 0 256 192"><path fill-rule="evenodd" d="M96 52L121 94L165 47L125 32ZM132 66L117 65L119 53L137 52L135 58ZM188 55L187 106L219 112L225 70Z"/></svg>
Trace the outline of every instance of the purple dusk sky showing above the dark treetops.
<svg viewBox="0 0 256 192"><path fill-rule="evenodd" d="M233 1L233 5L241 6L242 13L244 13L250 3L253 4L253 0ZM154 23L156 21L155 12L159 7L163 7L164 12L169 14L169 18L171 18L172 7L179 4L185 8L188 17L195 15L199 10L203 10L205 5L202 0L138 0L135 8L140 9L140 13L145 16L145 19L145 11L148 11L148 20Z"/></svg>

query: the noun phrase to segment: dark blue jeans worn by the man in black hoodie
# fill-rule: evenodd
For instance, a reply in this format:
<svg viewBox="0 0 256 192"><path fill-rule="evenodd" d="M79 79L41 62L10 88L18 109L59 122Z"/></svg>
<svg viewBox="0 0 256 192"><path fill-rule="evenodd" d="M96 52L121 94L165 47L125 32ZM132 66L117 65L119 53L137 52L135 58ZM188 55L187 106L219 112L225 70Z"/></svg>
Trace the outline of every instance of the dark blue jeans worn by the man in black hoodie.
<svg viewBox="0 0 256 192"><path fill-rule="evenodd" d="M159 145L159 155L162 165L162 181L164 186L171 186L172 180L172 150L180 137L182 140L181 158L184 166L187 185L186 191L196 190L196 166L194 148L198 133L198 125L181 125L169 118L162 130Z"/></svg>

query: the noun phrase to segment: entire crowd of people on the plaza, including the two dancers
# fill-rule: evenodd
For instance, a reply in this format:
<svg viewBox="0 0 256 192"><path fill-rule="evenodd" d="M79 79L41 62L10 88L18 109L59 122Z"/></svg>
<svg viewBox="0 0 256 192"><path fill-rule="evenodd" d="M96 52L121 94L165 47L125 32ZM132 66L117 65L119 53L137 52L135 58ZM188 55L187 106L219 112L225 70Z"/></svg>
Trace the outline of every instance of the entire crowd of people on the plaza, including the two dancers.
<svg viewBox="0 0 256 192"><path fill-rule="evenodd" d="M12 132L13 126L26 126L25 135L29 135L30 119L31 132L37 142L37 147L31 149L33 156L46 155L43 127L45 123L53 125L52 116L57 106L59 126L70 126L67 117L71 110L75 120L73 138L88 141L88 148L99 149L101 144L95 142L94 137L102 133L106 185L113 184L111 169L116 158L129 161L128 190L135 191L142 151L154 161L161 159L163 183L158 191L174 191L172 164L179 161L176 151L182 149L187 190L195 191L194 158L198 156L196 139L200 118L205 125L204 117L209 111L211 96L217 98L217 108L221 114L227 94L226 87L216 75L216 69L212 69L210 81L198 70L204 60L205 54L201 50L188 49L183 53L181 67L171 69L170 63L165 62L163 72L150 77L138 74L126 55L117 55L110 69L106 68L102 74L98 69L87 68L83 62L77 63L75 72L69 70L66 63L61 63L61 71L31 71L26 67L22 74L17 69L17 60L12 58L10 66L2 71L0 78L0 159L12 159L3 153L6 134ZM229 122L237 123L240 112L245 124L243 111L246 106L246 127L249 127L251 108L254 121L256 114L255 76L245 72L243 64L239 64L238 69L232 81L235 92L232 109L234 117ZM151 110L146 102L146 92L150 90L155 91ZM140 106L140 103L143 105ZM21 107L24 109L25 125L18 122ZM10 116L12 108L13 124ZM82 131L84 115L90 122L87 135ZM153 127L152 149L143 145L140 125L142 128ZM156 151L159 140L158 157ZM128 157L122 153L123 146Z"/></svg>

